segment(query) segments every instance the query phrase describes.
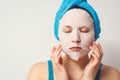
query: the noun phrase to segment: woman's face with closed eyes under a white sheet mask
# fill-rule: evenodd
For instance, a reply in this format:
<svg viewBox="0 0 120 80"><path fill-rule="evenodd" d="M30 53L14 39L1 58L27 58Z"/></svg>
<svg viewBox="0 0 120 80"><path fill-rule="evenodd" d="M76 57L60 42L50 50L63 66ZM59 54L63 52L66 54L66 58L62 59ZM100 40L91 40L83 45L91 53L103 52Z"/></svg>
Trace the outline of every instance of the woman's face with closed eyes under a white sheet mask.
<svg viewBox="0 0 120 80"><path fill-rule="evenodd" d="M89 52L94 40L93 20L82 9L67 11L59 23L59 40L63 52L71 59L78 60Z"/></svg>

